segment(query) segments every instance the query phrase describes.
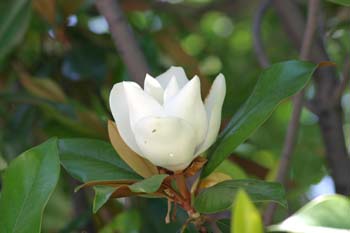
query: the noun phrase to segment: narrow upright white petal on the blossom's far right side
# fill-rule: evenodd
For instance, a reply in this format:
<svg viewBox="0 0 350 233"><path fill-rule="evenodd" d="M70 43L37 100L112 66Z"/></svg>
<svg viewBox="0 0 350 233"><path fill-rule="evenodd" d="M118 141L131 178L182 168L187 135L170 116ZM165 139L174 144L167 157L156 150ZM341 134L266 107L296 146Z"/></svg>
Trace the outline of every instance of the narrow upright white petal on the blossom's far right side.
<svg viewBox="0 0 350 233"><path fill-rule="evenodd" d="M196 150L196 155L208 149L216 140L221 124L221 109L226 95L225 77L219 74L211 86L208 97L205 100L205 108L208 114L208 132L204 142Z"/></svg>

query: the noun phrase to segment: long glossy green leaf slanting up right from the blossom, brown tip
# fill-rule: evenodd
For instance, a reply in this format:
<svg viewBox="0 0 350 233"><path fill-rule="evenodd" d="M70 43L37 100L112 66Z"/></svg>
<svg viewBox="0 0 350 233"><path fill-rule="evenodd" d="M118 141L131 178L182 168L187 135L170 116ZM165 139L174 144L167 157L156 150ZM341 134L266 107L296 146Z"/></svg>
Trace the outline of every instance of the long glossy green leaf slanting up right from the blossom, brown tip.
<svg viewBox="0 0 350 233"><path fill-rule="evenodd" d="M317 65L303 61L287 61L263 71L256 86L233 116L208 153L202 177L208 176L233 150L246 140L287 97L301 90Z"/></svg>

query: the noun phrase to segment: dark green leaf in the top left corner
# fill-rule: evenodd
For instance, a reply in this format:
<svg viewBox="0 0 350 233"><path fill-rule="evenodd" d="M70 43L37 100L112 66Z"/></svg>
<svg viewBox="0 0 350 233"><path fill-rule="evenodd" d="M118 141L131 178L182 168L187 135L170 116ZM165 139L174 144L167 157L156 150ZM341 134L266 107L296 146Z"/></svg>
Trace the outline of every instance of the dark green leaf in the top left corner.
<svg viewBox="0 0 350 233"><path fill-rule="evenodd" d="M0 62L22 40L30 21L31 2L0 1Z"/></svg>

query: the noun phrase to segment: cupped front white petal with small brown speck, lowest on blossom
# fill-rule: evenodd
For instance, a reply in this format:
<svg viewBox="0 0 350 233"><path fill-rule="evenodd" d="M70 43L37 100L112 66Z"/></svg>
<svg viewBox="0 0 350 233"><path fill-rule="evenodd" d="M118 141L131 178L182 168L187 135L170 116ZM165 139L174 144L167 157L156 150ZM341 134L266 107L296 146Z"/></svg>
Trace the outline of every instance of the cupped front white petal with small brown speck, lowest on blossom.
<svg viewBox="0 0 350 233"><path fill-rule="evenodd" d="M195 132L176 117L147 117L135 126L136 142L143 156L168 170L185 169L193 160Z"/></svg>

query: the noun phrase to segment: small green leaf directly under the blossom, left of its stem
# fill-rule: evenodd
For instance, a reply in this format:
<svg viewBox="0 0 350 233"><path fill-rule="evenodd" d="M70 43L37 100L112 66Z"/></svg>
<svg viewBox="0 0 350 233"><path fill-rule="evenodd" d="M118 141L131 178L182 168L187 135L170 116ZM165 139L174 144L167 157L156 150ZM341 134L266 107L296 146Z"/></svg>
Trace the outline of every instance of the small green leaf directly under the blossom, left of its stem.
<svg viewBox="0 0 350 233"><path fill-rule="evenodd" d="M135 193L154 193L159 189L167 176L167 174L154 175L130 185L129 188Z"/></svg>

